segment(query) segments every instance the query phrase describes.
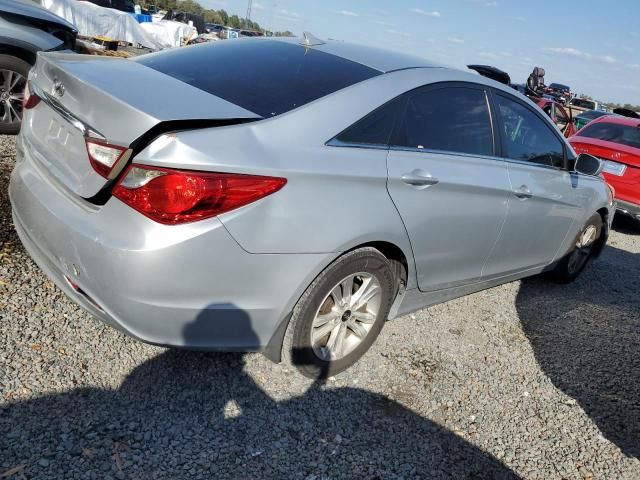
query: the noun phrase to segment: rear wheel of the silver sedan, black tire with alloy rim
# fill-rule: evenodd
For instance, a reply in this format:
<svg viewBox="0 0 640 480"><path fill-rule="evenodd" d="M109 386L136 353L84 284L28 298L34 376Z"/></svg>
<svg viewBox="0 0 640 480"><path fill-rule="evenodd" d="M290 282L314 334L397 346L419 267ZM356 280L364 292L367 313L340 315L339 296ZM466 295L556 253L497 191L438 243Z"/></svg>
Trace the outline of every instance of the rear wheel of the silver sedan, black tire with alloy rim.
<svg viewBox="0 0 640 480"><path fill-rule="evenodd" d="M349 368L377 338L396 290L392 266L375 248L340 257L298 300L282 359L314 379Z"/></svg>

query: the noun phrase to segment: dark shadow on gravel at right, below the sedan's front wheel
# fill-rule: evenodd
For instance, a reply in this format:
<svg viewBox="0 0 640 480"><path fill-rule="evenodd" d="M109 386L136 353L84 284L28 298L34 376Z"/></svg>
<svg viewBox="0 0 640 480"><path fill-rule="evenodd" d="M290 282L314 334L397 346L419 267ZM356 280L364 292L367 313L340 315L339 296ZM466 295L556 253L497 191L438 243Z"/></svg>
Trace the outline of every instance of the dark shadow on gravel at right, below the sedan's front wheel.
<svg viewBox="0 0 640 480"><path fill-rule="evenodd" d="M516 308L553 384L640 458L640 255L607 247L570 285L525 279Z"/></svg>

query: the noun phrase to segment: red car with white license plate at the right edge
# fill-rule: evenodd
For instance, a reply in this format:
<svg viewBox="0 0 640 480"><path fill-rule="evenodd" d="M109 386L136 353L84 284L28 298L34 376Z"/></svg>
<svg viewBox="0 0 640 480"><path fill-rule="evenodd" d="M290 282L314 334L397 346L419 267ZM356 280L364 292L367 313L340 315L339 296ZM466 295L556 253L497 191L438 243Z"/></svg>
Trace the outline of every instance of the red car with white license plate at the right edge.
<svg viewBox="0 0 640 480"><path fill-rule="evenodd" d="M576 153L605 161L603 175L615 190L618 211L640 220L640 119L604 116L569 138Z"/></svg>

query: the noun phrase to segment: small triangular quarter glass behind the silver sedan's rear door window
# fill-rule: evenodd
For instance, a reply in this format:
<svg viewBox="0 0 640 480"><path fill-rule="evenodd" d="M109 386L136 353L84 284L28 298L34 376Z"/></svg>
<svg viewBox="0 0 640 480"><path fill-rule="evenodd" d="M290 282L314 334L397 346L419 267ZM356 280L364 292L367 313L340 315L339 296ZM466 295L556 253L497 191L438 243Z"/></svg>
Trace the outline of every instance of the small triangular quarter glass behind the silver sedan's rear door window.
<svg viewBox="0 0 640 480"><path fill-rule="evenodd" d="M404 97L397 97L358 120L335 139L341 143L388 146Z"/></svg>

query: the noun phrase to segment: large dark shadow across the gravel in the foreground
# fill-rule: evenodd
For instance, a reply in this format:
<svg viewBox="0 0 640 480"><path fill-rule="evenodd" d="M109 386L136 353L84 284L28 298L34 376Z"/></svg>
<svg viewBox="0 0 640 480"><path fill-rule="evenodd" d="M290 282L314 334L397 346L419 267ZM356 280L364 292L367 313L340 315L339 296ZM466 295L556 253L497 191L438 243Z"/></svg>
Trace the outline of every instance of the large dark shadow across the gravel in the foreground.
<svg viewBox="0 0 640 480"><path fill-rule="evenodd" d="M212 321L220 318L203 313L185 336L215 329ZM234 321L251 328L244 313ZM283 395L294 382L303 393L277 400L256 377L243 354L168 350L117 390L9 404L0 467L24 465L28 478L519 478L385 396L283 378Z"/></svg>

